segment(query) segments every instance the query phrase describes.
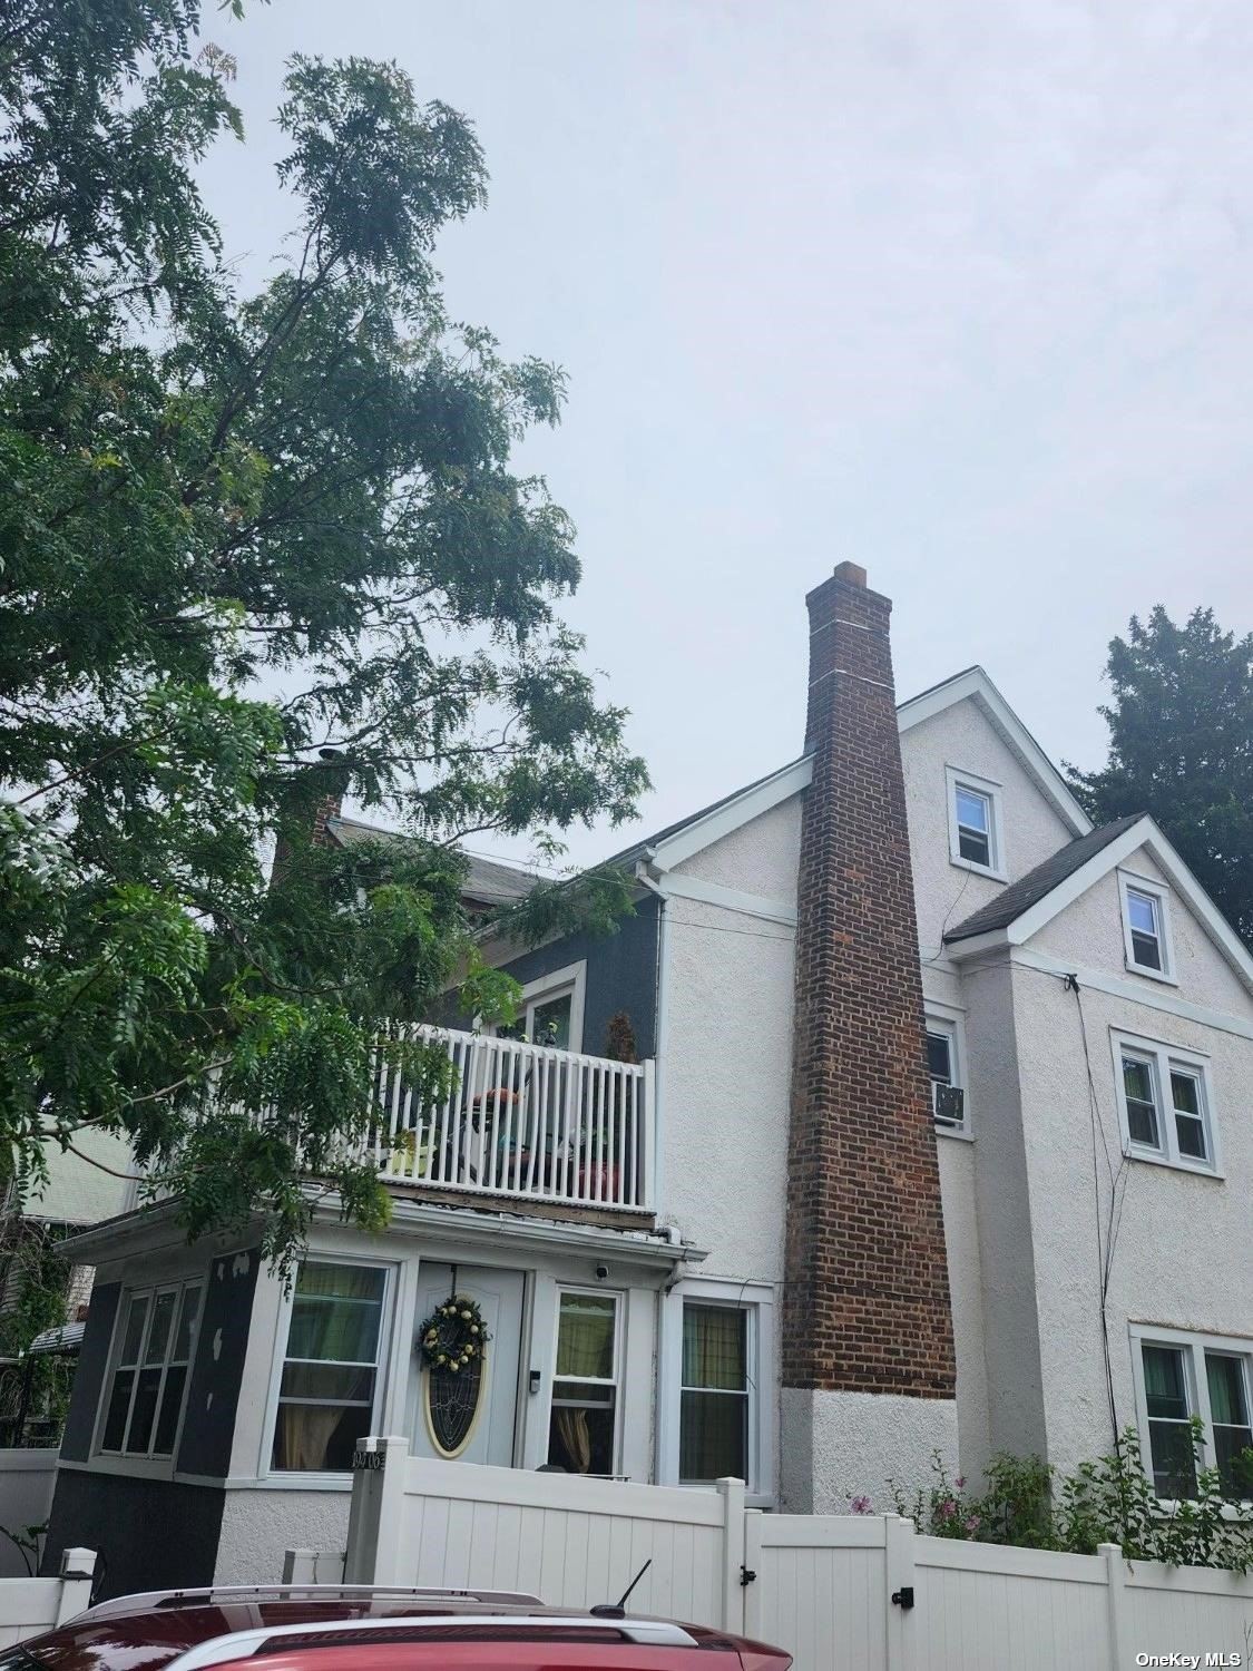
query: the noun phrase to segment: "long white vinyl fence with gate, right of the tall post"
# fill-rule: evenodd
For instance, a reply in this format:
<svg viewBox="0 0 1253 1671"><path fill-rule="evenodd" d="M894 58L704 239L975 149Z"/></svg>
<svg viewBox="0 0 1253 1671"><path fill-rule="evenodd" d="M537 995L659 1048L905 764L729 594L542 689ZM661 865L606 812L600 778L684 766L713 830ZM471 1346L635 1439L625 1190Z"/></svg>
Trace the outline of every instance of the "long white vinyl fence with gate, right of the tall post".
<svg viewBox="0 0 1253 1671"><path fill-rule="evenodd" d="M1133 1566L1114 1544L952 1542L892 1516L763 1514L740 1481L687 1491L431 1462L403 1439L364 1440L354 1467L349 1582L588 1608L652 1561L632 1609L775 1643L797 1671L1131 1671L1171 1653L1238 1666L1253 1646L1253 1579ZM287 1576L312 1559L289 1551Z"/></svg>

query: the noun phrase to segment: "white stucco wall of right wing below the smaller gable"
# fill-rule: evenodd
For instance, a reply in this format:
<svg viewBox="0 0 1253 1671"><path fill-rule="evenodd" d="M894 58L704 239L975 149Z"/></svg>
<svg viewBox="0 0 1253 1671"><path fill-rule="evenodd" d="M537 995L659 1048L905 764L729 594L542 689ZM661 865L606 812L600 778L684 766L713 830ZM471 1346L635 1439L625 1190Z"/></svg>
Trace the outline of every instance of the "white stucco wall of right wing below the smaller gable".
<svg viewBox="0 0 1253 1671"><path fill-rule="evenodd" d="M1148 871L1143 862L1136 869ZM1238 1024L1253 1023L1253 1004L1178 899L1173 934L1174 996L1235 1011ZM1061 912L1031 949L1048 949L1069 966L1101 959L1108 968L1113 959L1111 973L1124 973L1114 879ZM1012 973L1048 1449L1061 1467L1109 1449L1096 1243L1098 1225L1103 1237L1109 1230L1111 1175L1123 1198L1108 1297L1118 1424L1134 1422L1129 1322L1253 1343L1253 1039L1161 1009L1163 994L1174 989L1128 976L1129 988L1139 984L1153 1003L1093 988L1076 998L1048 974ZM1123 1156L1111 1029L1208 1059L1221 1178ZM1096 1091L1096 1166L1084 1031Z"/></svg>

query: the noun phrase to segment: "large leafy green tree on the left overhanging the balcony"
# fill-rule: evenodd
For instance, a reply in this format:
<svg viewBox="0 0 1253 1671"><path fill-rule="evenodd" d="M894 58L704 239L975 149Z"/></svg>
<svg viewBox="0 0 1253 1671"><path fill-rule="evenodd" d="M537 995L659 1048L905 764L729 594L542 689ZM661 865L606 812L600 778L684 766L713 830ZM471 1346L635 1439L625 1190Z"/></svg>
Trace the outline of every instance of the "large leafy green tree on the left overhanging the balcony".
<svg viewBox="0 0 1253 1671"><path fill-rule="evenodd" d="M199 22L0 3L0 1153L28 1186L120 1131L190 1233L264 1213L286 1258L302 1175L386 1213L354 1158L379 1021L424 1095L446 1063L394 1024L458 974L508 1009L458 841L616 822L647 779L556 613L571 523L510 463L561 373L441 299L471 125L396 65L296 58L296 234L241 294ZM411 841L312 846L331 780Z"/></svg>

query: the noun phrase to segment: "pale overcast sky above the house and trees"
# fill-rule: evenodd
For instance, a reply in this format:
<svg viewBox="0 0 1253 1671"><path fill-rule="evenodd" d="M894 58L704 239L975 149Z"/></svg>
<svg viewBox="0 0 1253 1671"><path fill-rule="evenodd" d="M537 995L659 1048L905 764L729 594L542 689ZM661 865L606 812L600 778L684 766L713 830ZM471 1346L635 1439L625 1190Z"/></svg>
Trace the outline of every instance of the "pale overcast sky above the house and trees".
<svg viewBox="0 0 1253 1671"><path fill-rule="evenodd" d="M294 224L294 52L473 119L453 317L560 363L520 463L653 790L591 862L794 759L805 592L894 600L897 693L974 662L1098 765L1109 638L1253 628L1248 0L249 0L207 8L247 144L204 167L242 276ZM525 844L483 851L523 857Z"/></svg>

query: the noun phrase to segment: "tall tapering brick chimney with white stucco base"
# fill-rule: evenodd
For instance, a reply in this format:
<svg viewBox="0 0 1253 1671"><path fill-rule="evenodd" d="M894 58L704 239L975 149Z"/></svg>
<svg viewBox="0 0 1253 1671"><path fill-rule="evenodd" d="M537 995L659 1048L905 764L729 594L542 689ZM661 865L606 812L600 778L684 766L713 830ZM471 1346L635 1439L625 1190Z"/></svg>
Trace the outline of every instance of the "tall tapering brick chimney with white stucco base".
<svg viewBox="0 0 1253 1671"><path fill-rule="evenodd" d="M809 605L789 1216L784 1492L847 1509L956 1447L952 1317L889 618L840 563ZM907 1402L906 1402L907 1400ZM795 1462L789 1469L789 1454ZM875 1501L875 1507L882 1504Z"/></svg>

